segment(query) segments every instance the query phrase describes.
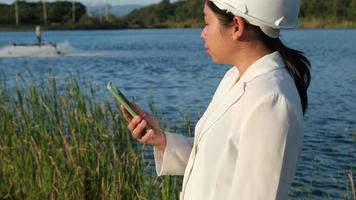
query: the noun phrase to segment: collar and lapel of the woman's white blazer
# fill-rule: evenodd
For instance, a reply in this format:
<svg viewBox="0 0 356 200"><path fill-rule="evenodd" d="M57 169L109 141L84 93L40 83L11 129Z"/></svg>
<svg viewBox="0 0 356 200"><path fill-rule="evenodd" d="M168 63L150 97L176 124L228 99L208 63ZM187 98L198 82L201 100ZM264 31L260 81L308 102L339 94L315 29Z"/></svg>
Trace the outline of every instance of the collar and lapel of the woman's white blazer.
<svg viewBox="0 0 356 200"><path fill-rule="evenodd" d="M273 52L268 54L259 60L257 60L254 64L252 64L247 71L240 77L240 80L237 81L232 87L231 85L227 85L227 87L231 87L231 89L224 88L224 92L219 95L223 95L222 97L215 98L221 102L212 102L211 106L208 107L207 112L203 115L202 123L199 126L199 129L196 132L199 142L201 138L206 134L206 132L210 129L210 127L218 121L224 113L236 102L238 101L245 92L246 85L253 81L255 78L274 71L279 68L284 67L284 61L281 55L278 52ZM232 69L236 70L234 75L236 75L236 80L239 77L239 73L237 68Z"/></svg>

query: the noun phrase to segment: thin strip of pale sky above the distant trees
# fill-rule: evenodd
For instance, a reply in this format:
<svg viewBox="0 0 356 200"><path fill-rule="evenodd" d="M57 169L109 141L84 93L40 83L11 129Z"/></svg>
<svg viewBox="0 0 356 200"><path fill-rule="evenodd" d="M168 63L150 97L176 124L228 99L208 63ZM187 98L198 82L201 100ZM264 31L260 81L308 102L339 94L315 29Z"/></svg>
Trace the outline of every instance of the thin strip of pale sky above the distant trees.
<svg viewBox="0 0 356 200"><path fill-rule="evenodd" d="M26 1L39 1L39 0L26 0ZM46 0L47 2L54 0ZM76 0L82 2L85 5L100 5L100 4L111 4L111 5L125 5L125 4L139 4L148 5L153 3L158 3L161 0ZM0 3L12 3L14 0L0 0Z"/></svg>

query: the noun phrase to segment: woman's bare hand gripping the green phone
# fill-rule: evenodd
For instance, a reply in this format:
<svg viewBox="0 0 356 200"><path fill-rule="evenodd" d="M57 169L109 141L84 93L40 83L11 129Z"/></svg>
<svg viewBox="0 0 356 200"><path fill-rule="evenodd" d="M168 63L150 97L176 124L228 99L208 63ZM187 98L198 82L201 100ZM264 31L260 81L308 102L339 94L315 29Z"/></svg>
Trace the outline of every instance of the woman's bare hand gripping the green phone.
<svg viewBox="0 0 356 200"><path fill-rule="evenodd" d="M157 120L150 114L143 111L138 105L131 104L138 116L132 118L127 110L120 106L120 110L128 121L128 128L131 135L141 143L155 146L161 151L166 148L166 135L159 126Z"/></svg>

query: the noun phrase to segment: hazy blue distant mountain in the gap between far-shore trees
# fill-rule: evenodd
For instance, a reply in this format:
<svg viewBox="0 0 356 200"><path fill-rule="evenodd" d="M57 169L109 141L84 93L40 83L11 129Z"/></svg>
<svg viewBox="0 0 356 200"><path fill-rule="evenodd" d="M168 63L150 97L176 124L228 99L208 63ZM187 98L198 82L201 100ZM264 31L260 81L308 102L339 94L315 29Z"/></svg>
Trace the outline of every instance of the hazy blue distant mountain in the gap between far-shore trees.
<svg viewBox="0 0 356 200"><path fill-rule="evenodd" d="M135 9L141 8L141 5L136 5L136 4L129 4L129 5L120 5L120 6L112 6L111 7L111 14L116 16L116 17L122 17L130 12L132 12ZM88 13L92 16L100 16L100 15L105 15L103 11L103 6L88 6Z"/></svg>

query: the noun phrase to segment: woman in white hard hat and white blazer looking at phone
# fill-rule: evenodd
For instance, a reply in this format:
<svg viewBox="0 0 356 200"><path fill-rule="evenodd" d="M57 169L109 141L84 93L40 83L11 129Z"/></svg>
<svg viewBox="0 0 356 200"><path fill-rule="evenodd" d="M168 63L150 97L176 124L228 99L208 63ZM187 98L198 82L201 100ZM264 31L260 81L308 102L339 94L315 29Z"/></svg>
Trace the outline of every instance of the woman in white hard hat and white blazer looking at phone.
<svg viewBox="0 0 356 200"><path fill-rule="evenodd" d="M299 2L210 0L201 33L214 62L232 64L195 137L161 130L141 110L133 137L154 146L158 175L184 175L181 199L287 199L303 139L310 64L280 29L298 24ZM142 134L149 125L146 133Z"/></svg>

